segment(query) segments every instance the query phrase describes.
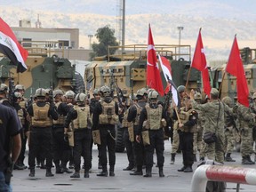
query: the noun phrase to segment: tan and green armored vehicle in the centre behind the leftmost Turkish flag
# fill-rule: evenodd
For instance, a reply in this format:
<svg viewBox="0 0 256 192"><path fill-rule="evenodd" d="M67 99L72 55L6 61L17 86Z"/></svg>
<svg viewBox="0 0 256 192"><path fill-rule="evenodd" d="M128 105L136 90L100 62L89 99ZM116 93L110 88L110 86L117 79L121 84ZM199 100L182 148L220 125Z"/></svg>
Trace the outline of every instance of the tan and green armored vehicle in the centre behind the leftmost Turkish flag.
<svg viewBox="0 0 256 192"><path fill-rule="evenodd" d="M171 61L174 83L177 86L186 84L191 59L190 45L156 44L155 47L157 54ZM95 58L85 68L85 88L88 92L92 93L95 88L108 85L114 92L116 101L119 95L118 92L121 90L128 108L132 102L132 94L136 93L140 88L147 86L146 67L148 45L110 46L108 50L112 48L125 50L125 53ZM196 69L192 69L188 81L188 88L200 88L200 73ZM165 82L164 76L163 82ZM118 152L124 151L123 132L123 129L117 128L116 151Z"/></svg>

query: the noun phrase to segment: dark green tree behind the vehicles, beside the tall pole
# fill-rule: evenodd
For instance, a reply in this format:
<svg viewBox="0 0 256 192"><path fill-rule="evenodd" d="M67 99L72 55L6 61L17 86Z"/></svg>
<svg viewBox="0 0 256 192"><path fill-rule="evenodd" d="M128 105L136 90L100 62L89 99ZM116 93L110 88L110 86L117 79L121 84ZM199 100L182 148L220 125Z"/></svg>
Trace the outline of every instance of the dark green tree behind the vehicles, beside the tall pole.
<svg viewBox="0 0 256 192"><path fill-rule="evenodd" d="M92 54L91 58L97 57L97 56L104 56L108 55L108 45L110 46L117 46L118 42L116 41L115 35L115 29L109 28L110 26L107 25L103 28L98 28L97 33L95 36L97 37L99 44L93 43L92 44ZM110 49L109 53L114 54L116 52L116 49Z"/></svg>

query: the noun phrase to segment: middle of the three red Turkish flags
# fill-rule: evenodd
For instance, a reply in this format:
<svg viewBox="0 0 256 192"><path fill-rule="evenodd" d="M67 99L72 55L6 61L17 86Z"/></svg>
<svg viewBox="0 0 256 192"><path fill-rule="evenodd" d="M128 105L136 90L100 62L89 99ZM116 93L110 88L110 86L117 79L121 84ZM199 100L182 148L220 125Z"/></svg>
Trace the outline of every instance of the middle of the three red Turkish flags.
<svg viewBox="0 0 256 192"><path fill-rule="evenodd" d="M196 43L196 50L191 63L191 68L196 68L197 70L201 71L201 75L203 79L203 89L204 89L204 92L210 98L210 92L212 88L209 80L209 71L207 68L206 58L204 54L204 44L201 36L201 28L199 30L199 35Z"/></svg>

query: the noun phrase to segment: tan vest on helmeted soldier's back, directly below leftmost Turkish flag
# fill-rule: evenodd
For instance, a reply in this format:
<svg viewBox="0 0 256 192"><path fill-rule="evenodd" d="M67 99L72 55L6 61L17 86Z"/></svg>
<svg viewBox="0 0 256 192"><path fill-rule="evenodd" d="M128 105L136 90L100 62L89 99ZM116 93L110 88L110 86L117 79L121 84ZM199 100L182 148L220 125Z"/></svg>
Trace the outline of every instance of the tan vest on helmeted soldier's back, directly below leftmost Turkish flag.
<svg viewBox="0 0 256 192"><path fill-rule="evenodd" d="M146 129L150 130L158 130L161 128L161 119L163 107L162 105L158 105L158 108L150 108L147 104L145 106L148 114L148 120L146 123Z"/></svg>

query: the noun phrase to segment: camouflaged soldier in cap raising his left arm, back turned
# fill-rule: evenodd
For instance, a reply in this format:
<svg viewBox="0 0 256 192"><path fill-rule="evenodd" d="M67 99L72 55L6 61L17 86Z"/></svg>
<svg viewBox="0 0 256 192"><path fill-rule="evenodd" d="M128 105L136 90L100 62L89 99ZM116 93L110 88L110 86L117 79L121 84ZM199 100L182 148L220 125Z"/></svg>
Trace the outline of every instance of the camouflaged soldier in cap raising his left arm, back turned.
<svg viewBox="0 0 256 192"><path fill-rule="evenodd" d="M192 107L199 109L205 116L204 132L215 132L217 140L206 144L207 158L224 163L224 105L218 100L219 91L215 88L211 90L211 102L198 104L194 100L195 91L190 92ZM206 125L207 124L207 125Z"/></svg>

